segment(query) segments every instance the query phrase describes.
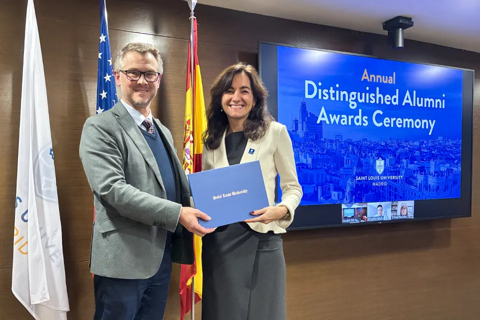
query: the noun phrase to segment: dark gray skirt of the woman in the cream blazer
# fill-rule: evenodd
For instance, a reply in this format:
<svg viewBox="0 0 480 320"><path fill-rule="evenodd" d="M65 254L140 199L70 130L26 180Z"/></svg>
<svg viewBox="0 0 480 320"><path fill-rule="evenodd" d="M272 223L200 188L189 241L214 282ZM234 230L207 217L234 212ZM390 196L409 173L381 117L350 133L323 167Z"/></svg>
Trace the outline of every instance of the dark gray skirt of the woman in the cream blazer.
<svg viewBox="0 0 480 320"><path fill-rule="evenodd" d="M202 320L285 320L285 258L280 234L246 223L202 238Z"/></svg>

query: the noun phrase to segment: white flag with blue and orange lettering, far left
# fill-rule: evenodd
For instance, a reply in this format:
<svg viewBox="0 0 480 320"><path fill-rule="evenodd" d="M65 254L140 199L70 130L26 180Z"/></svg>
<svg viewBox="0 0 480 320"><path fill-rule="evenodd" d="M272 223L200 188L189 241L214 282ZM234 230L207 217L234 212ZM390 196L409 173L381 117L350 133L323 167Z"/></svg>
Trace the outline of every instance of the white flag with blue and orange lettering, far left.
<svg viewBox="0 0 480 320"><path fill-rule="evenodd" d="M21 83L11 290L36 320L69 310L45 76L28 0Z"/></svg>

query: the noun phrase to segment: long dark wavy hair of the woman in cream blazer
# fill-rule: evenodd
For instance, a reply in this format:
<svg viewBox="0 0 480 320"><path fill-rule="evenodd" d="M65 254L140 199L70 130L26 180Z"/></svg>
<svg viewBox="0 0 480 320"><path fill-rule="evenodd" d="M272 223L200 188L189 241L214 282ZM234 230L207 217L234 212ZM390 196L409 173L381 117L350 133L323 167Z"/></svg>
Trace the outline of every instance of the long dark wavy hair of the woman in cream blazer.
<svg viewBox="0 0 480 320"><path fill-rule="evenodd" d="M273 120L266 105L267 91L255 68L243 62L230 65L221 71L210 89L210 104L205 110L206 130L202 135L203 144L209 149L216 149L220 145L223 132L228 126L228 118L221 111L221 97L231 87L233 76L241 72L250 79L253 97L256 99L255 106L243 124L243 134L247 139L257 140L265 134Z"/></svg>

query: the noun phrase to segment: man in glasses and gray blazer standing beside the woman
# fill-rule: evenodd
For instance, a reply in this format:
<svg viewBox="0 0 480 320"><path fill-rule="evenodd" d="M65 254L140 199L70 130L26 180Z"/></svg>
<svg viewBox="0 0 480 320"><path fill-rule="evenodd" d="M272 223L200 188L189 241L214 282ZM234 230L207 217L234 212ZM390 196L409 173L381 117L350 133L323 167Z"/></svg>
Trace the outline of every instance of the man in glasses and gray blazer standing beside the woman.
<svg viewBox="0 0 480 320"><path fill-rule="evenodd" d="M94 319L158 320L171 262L192 264L190 232L203 236L213 229L199 225L198 218L210 218L189 207L171 133L150 112L163 72L160 52L129 43L114 69L121 99L86 120L79 150L94 194Z"/></svg>

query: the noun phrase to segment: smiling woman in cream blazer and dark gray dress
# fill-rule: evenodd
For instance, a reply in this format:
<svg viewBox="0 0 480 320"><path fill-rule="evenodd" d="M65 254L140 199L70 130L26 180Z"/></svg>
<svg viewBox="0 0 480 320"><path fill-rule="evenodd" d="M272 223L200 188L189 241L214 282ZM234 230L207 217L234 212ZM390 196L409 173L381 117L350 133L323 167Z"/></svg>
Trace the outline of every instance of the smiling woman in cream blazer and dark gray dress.
<svg viewBox="0 0 480 320"><path fill-rule="evenodd" d="M243 63L224 69L210 90L202 170L259 160L270 206L202 238L202 319L286 318L281 233L302 190L290 137L268 113L266 96L255 69ZM274 205L278 173L282 196Z"/></svg>

